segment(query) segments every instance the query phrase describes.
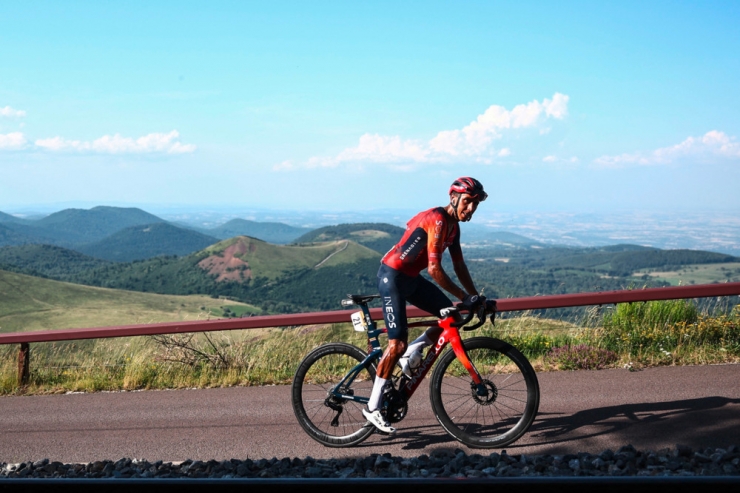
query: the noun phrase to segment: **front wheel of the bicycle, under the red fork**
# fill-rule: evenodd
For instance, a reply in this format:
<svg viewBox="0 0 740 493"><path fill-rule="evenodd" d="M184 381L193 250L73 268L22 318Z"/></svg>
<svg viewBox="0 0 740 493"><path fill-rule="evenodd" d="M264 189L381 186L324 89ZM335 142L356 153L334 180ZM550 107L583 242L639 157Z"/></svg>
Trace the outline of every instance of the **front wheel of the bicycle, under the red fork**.
<svg viewBox="0 0 740 493"><path fill-rule="evenodd" d="M490 337L463 341L465 351L483 378L486 395L447 351L430 382L432 409L442 427L469 447L504 447L531 426L540 403L537 375L513 346Z"/></svg>

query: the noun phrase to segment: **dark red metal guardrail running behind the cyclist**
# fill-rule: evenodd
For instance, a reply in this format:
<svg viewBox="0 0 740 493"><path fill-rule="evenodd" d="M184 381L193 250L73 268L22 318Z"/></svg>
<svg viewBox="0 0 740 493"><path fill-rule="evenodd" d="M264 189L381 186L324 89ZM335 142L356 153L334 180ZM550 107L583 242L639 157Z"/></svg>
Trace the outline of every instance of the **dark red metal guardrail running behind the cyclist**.
<svg viewBox="0 0 740 493"><path fill-rule="evenodd" d="M639 301L673 300L687 298L713 298L716 296L740 295L740 282L677 286L666 288L647 288L622 291L603 291L598 293L558 294L549 296L528 296L524 298L505 298L497 300L498 311L540 310L545 308L566 308L574 306L609 305ZM105 339L111 337L135 337L160 334L179 334L187 332L211 332L217 330L260 329L349 322L353 310L328 312L296 313L289 315L266 315L226 320L199 320L192 322L168 322L159 324L120 325L112 327L93 327L85 329L42 330L33 332L13 332L0 334L0 344L20 344L18 353L18 380L21 385L28 381L30 343L73 341L81 339ZM382 309L370 310L373 317L382 318ZM409 318L432 316L419 308L409 307Z"/></svg>

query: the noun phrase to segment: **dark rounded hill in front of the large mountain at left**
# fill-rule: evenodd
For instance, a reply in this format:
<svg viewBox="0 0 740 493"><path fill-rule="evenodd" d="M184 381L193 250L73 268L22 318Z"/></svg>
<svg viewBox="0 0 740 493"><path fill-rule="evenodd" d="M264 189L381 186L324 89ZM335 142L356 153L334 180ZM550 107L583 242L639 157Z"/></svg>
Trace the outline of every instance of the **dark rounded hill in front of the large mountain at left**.
<svg viewBox="0 0 740 493"><path fill-rule="evenodd" d="M131 262L159 255L188 255L217 241L213 236L160 222L125 228L76 250L99 259Z"/></svg>

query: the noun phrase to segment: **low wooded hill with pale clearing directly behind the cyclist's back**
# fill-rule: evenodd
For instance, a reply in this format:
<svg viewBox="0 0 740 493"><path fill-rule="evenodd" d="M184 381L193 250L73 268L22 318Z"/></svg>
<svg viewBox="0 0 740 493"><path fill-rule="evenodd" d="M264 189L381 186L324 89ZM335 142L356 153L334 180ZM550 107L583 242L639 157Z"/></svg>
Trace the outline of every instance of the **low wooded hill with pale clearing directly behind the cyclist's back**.
<svg viewBox="0 0 740 493"><path fill-rule="evenodd" d="M295 240L296 244L352 240L380 254L385 254L401 239L403 228L386 223L352 223L325 226Z"/></svg>

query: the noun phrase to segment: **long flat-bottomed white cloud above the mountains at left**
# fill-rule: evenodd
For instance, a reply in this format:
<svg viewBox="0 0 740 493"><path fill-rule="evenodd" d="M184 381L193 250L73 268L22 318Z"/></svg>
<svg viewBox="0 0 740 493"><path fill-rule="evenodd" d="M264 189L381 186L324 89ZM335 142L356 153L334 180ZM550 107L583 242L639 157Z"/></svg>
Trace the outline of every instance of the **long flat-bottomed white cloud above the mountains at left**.
<svg viewBox="0 0 740 493"><path fill-rule="evenodd" d="M63 137L38 139L36 147L49 151L97 152L103 154L183 154L194 152L193 144L183 144L178 139L177 130L169 133L151 133L137 139L122 137L120 134L104 135L92 142L69 140Z"/></svg>

